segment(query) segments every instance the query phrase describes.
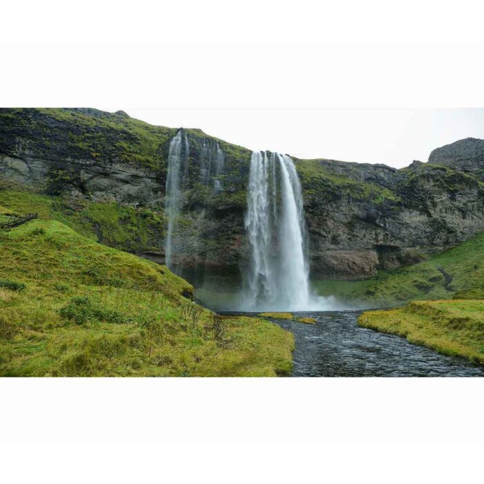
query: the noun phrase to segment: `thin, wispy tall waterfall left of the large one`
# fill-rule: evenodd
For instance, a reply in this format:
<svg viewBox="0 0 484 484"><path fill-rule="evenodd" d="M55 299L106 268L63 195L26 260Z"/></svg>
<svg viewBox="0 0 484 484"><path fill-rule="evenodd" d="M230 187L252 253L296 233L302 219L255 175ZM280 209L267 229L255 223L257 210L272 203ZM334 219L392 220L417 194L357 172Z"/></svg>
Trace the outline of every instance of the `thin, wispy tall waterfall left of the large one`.
<svg viewBox="0 0 484 484"><path fill-rule="evenodd" d="M180 178L183 178L183 163L189 155L187 134L180 129L171 140L168 152L168 172L165 190L165 216L167 217L167 236L165 239L165 264L172 268L173 239L176 218L180 212Z"/></svg>

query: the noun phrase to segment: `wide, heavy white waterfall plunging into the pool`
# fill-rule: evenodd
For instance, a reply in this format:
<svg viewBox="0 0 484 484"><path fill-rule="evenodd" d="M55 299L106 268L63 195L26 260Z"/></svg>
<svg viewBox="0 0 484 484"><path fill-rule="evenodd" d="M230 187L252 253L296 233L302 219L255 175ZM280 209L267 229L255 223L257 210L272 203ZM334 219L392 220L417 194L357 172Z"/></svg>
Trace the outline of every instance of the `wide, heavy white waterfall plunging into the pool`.
<svg viewBox="0 0 484 484"><path fill-rule="evenodd" d="M245 310L304 310L309 304L301 185L289 156L252 153L245 230L250 267Z"/></svg>

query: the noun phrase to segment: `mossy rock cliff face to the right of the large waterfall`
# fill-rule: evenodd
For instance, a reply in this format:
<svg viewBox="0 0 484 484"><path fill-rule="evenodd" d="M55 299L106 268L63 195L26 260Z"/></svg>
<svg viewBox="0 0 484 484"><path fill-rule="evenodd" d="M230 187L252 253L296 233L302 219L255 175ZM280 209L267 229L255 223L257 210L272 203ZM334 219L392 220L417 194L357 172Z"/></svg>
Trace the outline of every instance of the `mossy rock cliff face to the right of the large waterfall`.
<svg viewBox="0 0 484 484"><path fill-rule="evenodd" d="M328 173L325 162L300 162L318 277L371 276L483 230L483 185L472 176L420 162L400 170L353 169L342 178Z"/></svg>

